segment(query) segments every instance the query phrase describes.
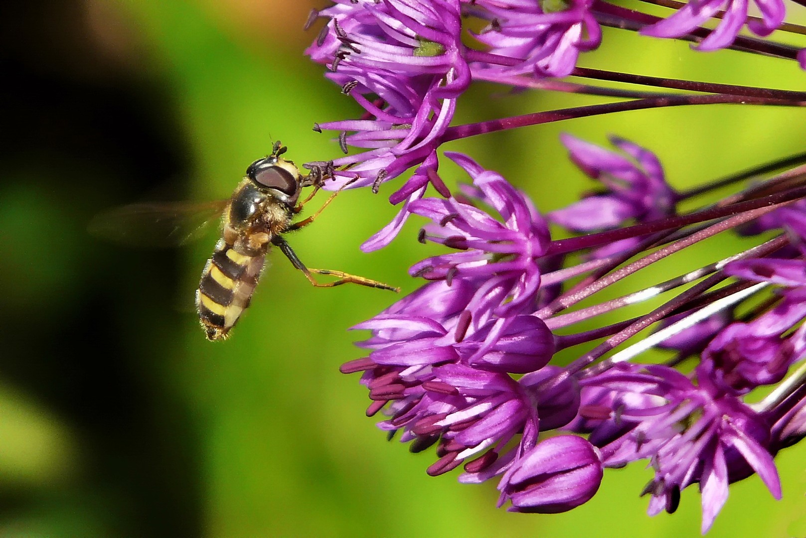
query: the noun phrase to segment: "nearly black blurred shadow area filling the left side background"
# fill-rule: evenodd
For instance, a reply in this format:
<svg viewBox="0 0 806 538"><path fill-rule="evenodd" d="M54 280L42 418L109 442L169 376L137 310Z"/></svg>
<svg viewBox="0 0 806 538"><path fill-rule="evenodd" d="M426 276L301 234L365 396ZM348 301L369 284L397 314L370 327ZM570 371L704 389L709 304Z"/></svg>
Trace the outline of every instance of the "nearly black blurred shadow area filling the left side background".
<svg viewBox="0 0 806 538"><path fill-rule="evenodd" d="M175 315L177 254L85 230L189 175L172 97L104 16L72 0L0 6L0 381L66 424L75 455L56 483L0 477L3 536L201 533L197 436L154 374L162 354L143 353L172 346L160 326ZM127 319L139 308L153 315Z"/></svg>

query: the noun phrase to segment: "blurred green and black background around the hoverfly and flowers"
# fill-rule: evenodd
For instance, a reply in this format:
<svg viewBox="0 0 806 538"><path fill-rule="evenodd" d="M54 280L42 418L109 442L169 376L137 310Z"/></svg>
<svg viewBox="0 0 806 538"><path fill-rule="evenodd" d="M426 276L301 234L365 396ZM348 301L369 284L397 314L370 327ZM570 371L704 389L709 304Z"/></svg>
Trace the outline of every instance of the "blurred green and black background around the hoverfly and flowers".
<svg viewBox="0 0 806 538"><path fill-rule="evenodd" d="M563 515L496 509L494 483L430 478L433 451L388 443L364 416L347 327L386 292L314 289L279 255L222 344L205 341L193 289L214 233L185 250L127 250L90 238L102 209L228 197L272 140L297 162L339 155L314 122L359 111L302 51L312 5L279 0L44 0L0 7L0 536L697 536L700 499L646 515L642 464L605 474ZM322 3L317 4L322 7ZM321 24L321 23L319 23ZM590 67L801 89L794 64L605 32ZM491 98L492 96L492 98ZM600 101L479 85L457 122ZM802 151L800 110L679 107L453 143L524 188L542 210L590 188L557 134L609 133L657 151L683 187ZM443 167L449 182L459 177ZM340 196L291 239L313 267L416 283L433 249L413 223L392 246L360 242L393 216L384 195ZM315 204L314 204L315 205ZM733 253L721 239L625 283ZM617 292L609 292L613 296ZM565 357L570 358L569 356ZM731 488L708 536L806 536L806 447L778 457L784 499L758 478Z"/></svg>

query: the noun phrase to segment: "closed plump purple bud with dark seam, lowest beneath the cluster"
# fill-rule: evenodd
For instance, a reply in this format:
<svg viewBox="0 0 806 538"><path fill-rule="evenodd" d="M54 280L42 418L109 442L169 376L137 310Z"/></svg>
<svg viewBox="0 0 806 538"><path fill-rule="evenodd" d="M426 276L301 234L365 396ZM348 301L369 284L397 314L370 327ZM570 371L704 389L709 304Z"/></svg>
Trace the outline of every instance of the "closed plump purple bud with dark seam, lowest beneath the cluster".
<svg viewBox="0 0 806 538"><path fill-rule="evenodd" d="M599 451L582 437L550 437L518 458L501 478L498 506L510 501L509 511L569 511L592 499L602 471Z"/></svg>

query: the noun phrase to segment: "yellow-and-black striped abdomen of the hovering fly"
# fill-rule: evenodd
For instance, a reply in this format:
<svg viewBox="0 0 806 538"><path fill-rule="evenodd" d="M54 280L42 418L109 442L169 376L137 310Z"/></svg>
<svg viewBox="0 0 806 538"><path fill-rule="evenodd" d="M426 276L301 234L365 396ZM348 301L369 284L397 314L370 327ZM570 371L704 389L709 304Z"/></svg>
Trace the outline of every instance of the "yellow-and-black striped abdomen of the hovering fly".
<svg viewBox="0 0 806 538"><path fill-rule="evenodd" d="M265 253L249 255L220 240L213 257L207 260L196 291L199 320L209 340L221 340L249 306L255 291Z"/></svg>

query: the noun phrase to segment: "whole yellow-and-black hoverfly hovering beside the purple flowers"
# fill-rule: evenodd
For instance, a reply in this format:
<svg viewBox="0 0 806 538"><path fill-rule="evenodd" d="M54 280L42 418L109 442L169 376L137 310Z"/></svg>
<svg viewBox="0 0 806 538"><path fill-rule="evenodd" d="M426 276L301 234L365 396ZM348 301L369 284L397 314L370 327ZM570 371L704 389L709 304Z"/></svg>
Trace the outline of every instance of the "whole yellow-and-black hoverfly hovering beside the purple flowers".
<svg viewBox="0 0 806 538"><path fill-rule="evenodd" d="M203 208L223 211L221 217L222 236L215 246L214 253L202 271L202 279L196 290L196 309L202 329L211 340L223 340L238 322L243 311L249 306L264 261L270 246L280 249L294 267L305 275L311 284L320 288L330 288L343 283L356 283L370 288L386 289L399 292L387 284L367 279L363 276L349 275L343 271L330 271L305 267L297 257L283 235L299 230L313 222L319 213L326 208L338 194L330 195L320 209L310 217L293 222L293 217L300 213L302 207L310 201L328 172L315 169L308 176L302 176L297 166L283 159L286 151L280 142L272 147L272 154L257 159L247 168L246 176L235 188L229 200L204 205ZM301 191L305 187L314 190L304 201L299 201ZM151 220L160 222L160 226L174 226L185 213L197 211L198 205L190 209L185 204L162 205L127 205L102 213L90 223L90 231L94 234L109 237L110 230L121 229L125 234L132 221ZM198 226L194 229L197 231ZM168 230L168 242L181 244L186 234L180 233L180 227ZM119 235L119 234L118 234ZM164 235L164 234L162 234ZM155 238L164 239L158 236ZM123 238L128 241L127 238ZM314 279L316 275L332 275L337 280L320 283Z"/></svg>

